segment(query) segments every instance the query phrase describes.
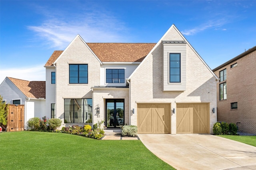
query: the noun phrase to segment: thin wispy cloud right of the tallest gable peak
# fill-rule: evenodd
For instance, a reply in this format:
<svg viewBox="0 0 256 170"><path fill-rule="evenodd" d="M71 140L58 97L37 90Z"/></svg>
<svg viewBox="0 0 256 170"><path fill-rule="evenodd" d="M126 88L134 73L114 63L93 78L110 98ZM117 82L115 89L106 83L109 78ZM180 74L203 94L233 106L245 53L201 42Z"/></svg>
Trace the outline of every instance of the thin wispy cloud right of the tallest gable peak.
<svg viewBox="0 0 256 170"><path fill-rule="evenodd" d="M226 23L226 21L224 19L215 20L215 21L211 20L211 21L208 21L207 23L204 23L204 24L202 24L198 27L195 27L193 29L181 31L181 33L183 35L194 35L198 32L204 31L209 28L215 28L217 30L219 27L221 27L225 23ZM226 29L222 29L222 30L226 30Z"/></svg>

